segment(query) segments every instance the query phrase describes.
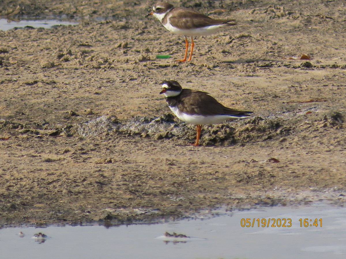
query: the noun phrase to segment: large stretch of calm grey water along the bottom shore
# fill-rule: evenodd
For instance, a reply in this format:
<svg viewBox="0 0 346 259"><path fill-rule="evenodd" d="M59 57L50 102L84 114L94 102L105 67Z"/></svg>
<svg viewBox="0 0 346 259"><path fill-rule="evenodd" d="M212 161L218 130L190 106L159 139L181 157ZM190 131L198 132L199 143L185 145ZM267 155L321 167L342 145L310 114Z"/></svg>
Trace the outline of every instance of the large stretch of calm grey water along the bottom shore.
<svg viewBox="0 0 346 259"><path fill-rule="evenodd" d="M291 227L242 227L242 219L291 219ZM299 219L322 219L300 227ZM257 222L255 223L257 224ZM312 223L310 223L312 224ZM288 225L286 223L286 225ZM24 232L24 237L18 233ZM165 232L186 242L165 242ZM44 243L32 237L43 232ZM273 207L175 222L103 226L0 229L1 258L345 258L346 208Z"/></svg>

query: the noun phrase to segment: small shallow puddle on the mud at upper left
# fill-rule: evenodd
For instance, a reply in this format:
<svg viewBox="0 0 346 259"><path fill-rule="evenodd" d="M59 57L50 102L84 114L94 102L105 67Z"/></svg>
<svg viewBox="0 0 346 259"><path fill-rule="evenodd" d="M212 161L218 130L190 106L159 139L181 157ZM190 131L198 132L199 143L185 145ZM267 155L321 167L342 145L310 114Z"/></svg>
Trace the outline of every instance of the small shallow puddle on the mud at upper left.
<svg viewBox="0 0 346 259"><path fill-rule="evenodd" d="M21 20L21 21L8 21L7 19L0 19L0 30L7 31L14 28L24 28L30 26L33 28L52 28L56 25L76 25L78 22L60 21L60 20Z"/></svg>

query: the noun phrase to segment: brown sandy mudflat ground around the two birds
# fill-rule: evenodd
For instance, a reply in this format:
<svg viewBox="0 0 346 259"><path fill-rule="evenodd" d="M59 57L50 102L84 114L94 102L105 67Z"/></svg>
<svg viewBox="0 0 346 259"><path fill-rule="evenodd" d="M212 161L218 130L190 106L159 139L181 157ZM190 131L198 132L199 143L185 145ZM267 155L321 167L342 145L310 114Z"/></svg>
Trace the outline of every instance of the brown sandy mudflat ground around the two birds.
<svg viewBox="0 0 346 259"><path fill-rule="evenodd" d="M0 16L80 23L0 31L0 226L345 204L344 1L174 1L238 22L186 63L183 39L145 17L155 1L31 2ZM204 126L193 147L163 80L253 116Z"/></svg>

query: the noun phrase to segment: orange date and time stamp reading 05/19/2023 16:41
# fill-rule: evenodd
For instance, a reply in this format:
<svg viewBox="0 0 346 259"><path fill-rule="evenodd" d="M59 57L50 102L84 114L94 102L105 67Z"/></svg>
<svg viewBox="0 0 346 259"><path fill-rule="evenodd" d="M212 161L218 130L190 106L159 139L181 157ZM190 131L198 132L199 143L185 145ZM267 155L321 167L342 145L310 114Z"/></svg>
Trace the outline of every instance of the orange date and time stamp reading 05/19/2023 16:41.
<svg viewBox="0 0 346 259"><path fill-rule="evenodd" d="M262 227L262 228L290 228L292 227L292 219L241 219L240 226L242 227ZM322 227L322 219L299 219L299 226L302 227Z"/></svg>

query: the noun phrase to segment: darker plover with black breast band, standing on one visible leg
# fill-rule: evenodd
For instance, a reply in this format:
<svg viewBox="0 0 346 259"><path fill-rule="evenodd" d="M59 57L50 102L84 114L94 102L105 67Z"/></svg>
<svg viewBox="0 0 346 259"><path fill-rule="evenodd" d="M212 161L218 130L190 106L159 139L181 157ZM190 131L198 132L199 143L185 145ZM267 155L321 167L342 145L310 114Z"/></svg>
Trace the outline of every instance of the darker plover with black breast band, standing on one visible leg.
<svg viewBox="0 0 346 259"><path fill-rule="evenodd" d="M184 122L197 126L197 138L194 146L198 146L202 125L219 124L227 119L242 119L252 112L237 111L220 104L206 92L183 89L174 80L164 81L162 91L171 111Z"/></svg>

